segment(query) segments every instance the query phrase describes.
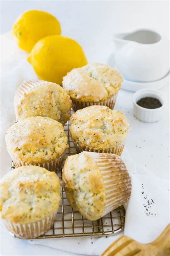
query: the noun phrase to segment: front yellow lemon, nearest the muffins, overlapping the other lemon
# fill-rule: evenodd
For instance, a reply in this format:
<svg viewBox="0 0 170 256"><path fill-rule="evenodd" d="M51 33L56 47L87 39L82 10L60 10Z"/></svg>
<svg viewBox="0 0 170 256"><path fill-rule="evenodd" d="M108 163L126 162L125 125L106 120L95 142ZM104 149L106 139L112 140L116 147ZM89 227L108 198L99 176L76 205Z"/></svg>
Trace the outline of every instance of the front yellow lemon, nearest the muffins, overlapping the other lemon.
<svg viewBox="0 0 170 256"><path fill-rule="evenodd" d="M75 40L56 35L39 40L29 54L28 61L39 78L60 85L67 72L87 64L84 51Z"/></svg>

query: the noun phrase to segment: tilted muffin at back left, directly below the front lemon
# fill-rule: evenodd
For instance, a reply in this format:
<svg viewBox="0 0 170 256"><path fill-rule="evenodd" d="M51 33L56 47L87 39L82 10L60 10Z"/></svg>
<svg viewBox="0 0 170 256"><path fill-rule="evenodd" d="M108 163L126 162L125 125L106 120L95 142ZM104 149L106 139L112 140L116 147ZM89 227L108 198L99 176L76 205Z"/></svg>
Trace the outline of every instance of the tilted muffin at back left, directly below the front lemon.
<svg viewBox="0 0 170 256"><path fill-rule="evenodd" d="M60 85L42 80L20 85L14 96L16 119L50 117L63 125L70 118L71 99Z"/></svg>

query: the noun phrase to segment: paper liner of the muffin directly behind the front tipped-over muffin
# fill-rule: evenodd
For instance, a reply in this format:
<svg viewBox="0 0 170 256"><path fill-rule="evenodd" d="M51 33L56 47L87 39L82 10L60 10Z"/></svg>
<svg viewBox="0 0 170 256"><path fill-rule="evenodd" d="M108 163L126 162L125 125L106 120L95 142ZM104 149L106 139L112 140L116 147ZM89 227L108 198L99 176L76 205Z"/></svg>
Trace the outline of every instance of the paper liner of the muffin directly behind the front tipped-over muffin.
<svg viewBox="0 0 170 256"><path fill-rule="evenodd" d="M124 140L121 144L118 144L113 148L100 150L100 149L90 149L89 147L81 147L79 143L77 143L74 139L72 139L72 142L75 145L77 153L80 153L82 151L89 151L89 152L96 152L96 153L112 153L112 154L117 154L118 156L121 156L124 145L125 145L125 140Z"/></svg>

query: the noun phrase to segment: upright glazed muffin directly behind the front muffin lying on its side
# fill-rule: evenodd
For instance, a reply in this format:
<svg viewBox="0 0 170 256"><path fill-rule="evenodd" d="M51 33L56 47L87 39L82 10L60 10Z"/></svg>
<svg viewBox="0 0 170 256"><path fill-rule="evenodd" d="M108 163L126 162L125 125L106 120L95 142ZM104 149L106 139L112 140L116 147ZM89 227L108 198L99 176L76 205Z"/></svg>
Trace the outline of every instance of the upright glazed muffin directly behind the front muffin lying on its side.
<svg viewBox="0 0 170 256"><path fill-rule="evenodd" d="M77 152L121 155L129 132L126 116L106 106L90 106L71 116L71 137Z"/></svg>

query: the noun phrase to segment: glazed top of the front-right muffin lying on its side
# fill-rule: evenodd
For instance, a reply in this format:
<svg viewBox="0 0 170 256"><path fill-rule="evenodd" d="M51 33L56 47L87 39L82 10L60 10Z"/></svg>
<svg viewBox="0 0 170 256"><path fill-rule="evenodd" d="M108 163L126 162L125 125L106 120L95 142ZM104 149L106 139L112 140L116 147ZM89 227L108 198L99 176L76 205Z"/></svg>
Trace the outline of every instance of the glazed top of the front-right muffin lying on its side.
<svg viewBox="0 0 170 256"><path fill-rule="evenodd" d="M66 159L62 185L71 206L88 220L97 220L104 212L106 196L99 167L88 154Z"/></svg>

